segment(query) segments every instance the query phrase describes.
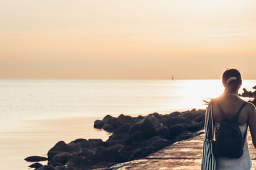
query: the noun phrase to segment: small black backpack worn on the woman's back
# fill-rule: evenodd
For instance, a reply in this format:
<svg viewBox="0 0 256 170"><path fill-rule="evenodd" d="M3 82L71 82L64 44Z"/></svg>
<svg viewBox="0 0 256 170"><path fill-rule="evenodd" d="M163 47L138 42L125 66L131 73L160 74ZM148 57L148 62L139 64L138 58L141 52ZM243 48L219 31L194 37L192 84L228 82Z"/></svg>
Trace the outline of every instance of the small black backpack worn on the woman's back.
<svg viewBox="0 0 256 170"><path fill-rule="evenodd" d="M239 126L237 125L237 118L245 105L246 102L241 105L235 117L233 118L230 114L225 116L224 111L218 103L218 108L220 110L221 116L223 117L223 122L220 124L220 129L216 131L216 140L214 142L213 148L214 156L239 158L243 155L243 146L246 138L248 123L246 126L246 132L242 137Z"/></svg>

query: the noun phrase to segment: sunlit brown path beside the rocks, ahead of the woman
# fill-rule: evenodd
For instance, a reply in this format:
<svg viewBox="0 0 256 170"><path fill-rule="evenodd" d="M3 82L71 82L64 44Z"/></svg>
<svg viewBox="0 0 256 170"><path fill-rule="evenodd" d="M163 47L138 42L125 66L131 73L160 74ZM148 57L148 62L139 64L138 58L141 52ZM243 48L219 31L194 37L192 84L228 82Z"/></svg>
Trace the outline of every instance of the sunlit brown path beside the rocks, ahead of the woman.
<svg viewBox="0 0 256 170"><path fill-rule="evenodd" d="M116 166L113 166L112 169L200 169L203 143L204 134L201 134L195 138L174 143L172 146L168 146L163 150L152 153L144 159L132 160L131 162L116 164ZM248 145L253 162L252 169L255 169L256 149L252 145L250 132L248 134Z"/></svg>

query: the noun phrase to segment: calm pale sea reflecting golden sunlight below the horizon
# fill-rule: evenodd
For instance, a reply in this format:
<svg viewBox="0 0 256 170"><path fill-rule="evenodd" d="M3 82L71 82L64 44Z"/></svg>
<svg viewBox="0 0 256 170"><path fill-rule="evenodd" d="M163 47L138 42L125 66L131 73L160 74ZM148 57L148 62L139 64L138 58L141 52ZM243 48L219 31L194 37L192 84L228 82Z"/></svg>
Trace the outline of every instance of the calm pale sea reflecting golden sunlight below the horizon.
<svg viewBox="0 0 256 170"><path fill-rule="evenodd" d="M255 85L243 80L239 93ZM106 141L93 129L106 115L205 109L223 90L221 80L0 80L0 169L29 169L26 157L47 156L58 141Z"/></svg>

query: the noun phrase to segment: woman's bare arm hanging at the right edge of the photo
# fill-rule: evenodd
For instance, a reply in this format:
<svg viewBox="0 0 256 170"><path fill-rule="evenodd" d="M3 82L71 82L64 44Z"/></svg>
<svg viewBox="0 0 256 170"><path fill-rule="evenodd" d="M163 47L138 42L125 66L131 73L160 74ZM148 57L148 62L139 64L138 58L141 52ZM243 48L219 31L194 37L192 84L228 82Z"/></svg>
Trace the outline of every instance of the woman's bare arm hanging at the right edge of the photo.
<svg viewBox="0 0 256 170"><path fill-rule="evenodd" d="M248 104L248 123L252 136L252 143L254 148L256 148L256 109L252 103Z"/></svg>

